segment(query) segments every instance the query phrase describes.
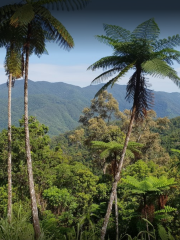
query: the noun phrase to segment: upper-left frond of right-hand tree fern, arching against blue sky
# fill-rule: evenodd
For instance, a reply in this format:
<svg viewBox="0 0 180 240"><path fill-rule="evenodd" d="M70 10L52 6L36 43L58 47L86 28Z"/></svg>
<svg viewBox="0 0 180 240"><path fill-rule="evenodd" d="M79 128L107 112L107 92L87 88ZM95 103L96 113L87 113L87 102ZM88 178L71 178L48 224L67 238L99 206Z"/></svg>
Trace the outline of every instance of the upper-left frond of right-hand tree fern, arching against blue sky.
<svg viewBox="0 0 180 240"><path fill-rule="evenodd" d="M122 27L104 23L103 28L107 37L114 39L115 41L127 42L130 40L131 32Z"/></svg>

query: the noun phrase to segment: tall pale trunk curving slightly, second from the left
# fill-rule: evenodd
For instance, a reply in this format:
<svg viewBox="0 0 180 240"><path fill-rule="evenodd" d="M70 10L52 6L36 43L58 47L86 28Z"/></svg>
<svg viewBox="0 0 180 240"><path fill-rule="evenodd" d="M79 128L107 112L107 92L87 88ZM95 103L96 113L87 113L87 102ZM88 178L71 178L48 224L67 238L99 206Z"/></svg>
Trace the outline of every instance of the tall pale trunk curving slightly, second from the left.
<svg viewBox="0 0 180 240"><path fill-rule="evenodd" d="M25 147L26 147L26 158L27 158L27 169L28 169L28 180L29 190L31 197L31 209L33 218L33 227L35 232L35 239L40 237L40 224L38 217L38 209L36 202L36 194L34 189L31 150L30 150L30 139L29 139L29 126L28 126L28 68L29 68L29 39L30 39L30 24L28 25L28 37L26 45L26 62L25 62L25 80L24 80L24 129L25 129Z"/></svg>

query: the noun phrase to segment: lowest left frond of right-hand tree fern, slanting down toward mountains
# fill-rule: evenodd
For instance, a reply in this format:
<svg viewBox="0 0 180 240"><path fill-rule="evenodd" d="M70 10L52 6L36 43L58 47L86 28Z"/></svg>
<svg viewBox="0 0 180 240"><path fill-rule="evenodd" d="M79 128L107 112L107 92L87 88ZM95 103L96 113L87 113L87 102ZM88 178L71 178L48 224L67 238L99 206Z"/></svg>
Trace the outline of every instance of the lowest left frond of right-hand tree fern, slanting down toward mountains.
<svg viewBox="0 0 180 240"><path fill-rule="evenodd" d="M122 76L124 76L129 69L131 69L133 67L134 63L129 64L128 66L126 66L123 70L121 70L121 72L114 78L112 78L111 80L109 80L109 82L107 82L95 95L95 97L99 96L99 94L101 94L103 91L105 91L110 85L111 87L113 87L113 85L118 81L119 78L121 78ZM101 74L102 75L102 74ZM92 83L94 81L97 81L98 77L95 78ZM92 84L91 83L91 84Z"/></svg>

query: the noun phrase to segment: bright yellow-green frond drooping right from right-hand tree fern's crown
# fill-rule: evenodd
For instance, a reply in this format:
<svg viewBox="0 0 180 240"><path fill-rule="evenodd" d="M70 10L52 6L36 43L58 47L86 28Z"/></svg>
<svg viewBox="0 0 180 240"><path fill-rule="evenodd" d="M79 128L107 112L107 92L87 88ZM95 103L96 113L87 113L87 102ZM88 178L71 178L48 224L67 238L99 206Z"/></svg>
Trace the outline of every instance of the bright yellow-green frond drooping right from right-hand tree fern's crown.
<svg viewBox="0 0 180 240"><path fill-rule="evenodd" d="M146 61L141 64L143 71L150 74L153 77L168 77L171 79L178 87L180 87L180 78L177 72L171 68L165 61L154 58L150 61Z"/></svg>

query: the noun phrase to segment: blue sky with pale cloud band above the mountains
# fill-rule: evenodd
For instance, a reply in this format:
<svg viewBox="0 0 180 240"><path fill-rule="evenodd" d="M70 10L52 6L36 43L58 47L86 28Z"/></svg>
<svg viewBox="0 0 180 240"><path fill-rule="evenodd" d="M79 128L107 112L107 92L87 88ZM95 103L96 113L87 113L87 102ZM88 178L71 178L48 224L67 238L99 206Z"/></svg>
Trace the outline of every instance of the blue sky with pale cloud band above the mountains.
<svg viewBox="0 0 180 240"><path fill-rule="evenodd" d="M18 3L15 0L1 0L0 6L15 2ZM109 46L95 39L95 35L105 34L103 23L119 25L132 31L140 23L154 17L161 30L160 38L180 34L178 0L91 0L82 10L51 11L71 34L75 47L68 52L51 43L47 44L49 55L40 58L31 56L29 79L33 81L65 82L81 87L90 85L102 70L92 72L87 71L87 67L113 53ZM4 83L7 80L3 66L5 50L0 51L0 83ZM175 64L174 68L180 76L180 66ZM126 84L131 73L120 80L119 84ZM169 79L149 76L149 82L155 91L180 92Z"/></svg>

